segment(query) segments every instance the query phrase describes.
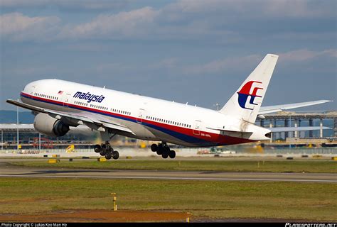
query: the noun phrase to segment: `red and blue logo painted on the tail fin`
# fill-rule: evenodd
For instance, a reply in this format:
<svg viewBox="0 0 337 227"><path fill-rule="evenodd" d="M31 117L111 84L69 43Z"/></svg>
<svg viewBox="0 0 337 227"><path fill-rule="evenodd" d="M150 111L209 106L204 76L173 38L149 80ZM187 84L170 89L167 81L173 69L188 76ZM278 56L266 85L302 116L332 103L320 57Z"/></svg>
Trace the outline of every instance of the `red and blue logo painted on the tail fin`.
<svg viewBox="0 0 337 227"><path fill-rule="evenodd" d="M239 99L237 101L239 102L239 105L241 106L241 108L252 110L252 108L247 107L247 99L249 96L250 96L249 104L251 105L257 105L254 103L254 100L256 97L262 98L262 96L257 95L257 91L259 89L263 89L262 87L257 87L258 84L262 84L262 82L258 82L258 81L247 82L245 85L243 85L240 91L237 92L237 94L239 94ZM254 89L252 89L252 87ZM252 93L250 93L251 90L252 90Z"/></svg>

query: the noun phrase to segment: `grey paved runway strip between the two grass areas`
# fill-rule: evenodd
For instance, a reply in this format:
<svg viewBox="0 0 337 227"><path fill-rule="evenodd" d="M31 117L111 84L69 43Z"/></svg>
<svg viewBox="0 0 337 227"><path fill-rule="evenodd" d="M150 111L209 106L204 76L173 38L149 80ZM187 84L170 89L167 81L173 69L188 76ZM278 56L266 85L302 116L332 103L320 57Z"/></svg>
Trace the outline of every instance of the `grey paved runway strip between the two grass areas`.
<svg viewBox="0 0 337 227"><path fill-rule="evenodd" d="M245 182L316 182L337 183L336 174L328 173L267 173L267 172L197 172L149 170L47 170L26 167L5 167L0 177L96 178L96 179L163 179Z"/></svg>

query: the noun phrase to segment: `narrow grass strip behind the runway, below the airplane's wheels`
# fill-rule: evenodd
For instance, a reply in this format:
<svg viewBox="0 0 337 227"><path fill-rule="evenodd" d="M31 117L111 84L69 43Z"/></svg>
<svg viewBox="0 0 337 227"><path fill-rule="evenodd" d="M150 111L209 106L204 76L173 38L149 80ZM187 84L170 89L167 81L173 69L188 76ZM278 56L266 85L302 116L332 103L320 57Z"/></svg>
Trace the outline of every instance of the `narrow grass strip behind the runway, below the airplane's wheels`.
<svg viewBox="0 0 337 227"><path fill-rule="evenodd" d="M108 170L181 170L224 172L326 172L337 173L333 160L113 160L97 162L60 160L50 164L46 161L11 162L26 167L63 167Z"/></svg>

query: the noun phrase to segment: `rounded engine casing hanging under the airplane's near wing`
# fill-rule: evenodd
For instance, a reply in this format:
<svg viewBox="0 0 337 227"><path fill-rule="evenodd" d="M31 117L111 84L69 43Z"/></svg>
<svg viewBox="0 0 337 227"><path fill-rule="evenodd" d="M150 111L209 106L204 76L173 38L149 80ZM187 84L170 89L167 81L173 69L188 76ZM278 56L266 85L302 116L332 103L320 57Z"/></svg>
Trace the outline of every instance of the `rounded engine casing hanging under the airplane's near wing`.
<svg viewBox="0 0 337 227"><path fill-rule="evenodd" d="M52 118L48 114L37 114L34 119L34 128L39 133L50 136L63 136L69 131L69 126L62 121Z"/></svg>

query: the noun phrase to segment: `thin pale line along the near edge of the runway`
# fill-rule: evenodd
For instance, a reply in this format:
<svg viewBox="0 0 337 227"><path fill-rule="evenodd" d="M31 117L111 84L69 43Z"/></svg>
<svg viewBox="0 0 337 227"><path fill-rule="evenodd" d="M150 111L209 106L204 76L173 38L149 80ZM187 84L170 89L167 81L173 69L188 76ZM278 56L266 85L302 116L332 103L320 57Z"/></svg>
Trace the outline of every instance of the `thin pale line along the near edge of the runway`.
<svg viewBox="0 0 337 227"><path fill-rule="evenodd" d="M324 182L337 183L337 179L253 179L253 178L217 178L217 177L113 177L113 176L27 176L27 175L0 175L0 177L42 177L42 178L98 178L98 179L177 179L177 180L215 180L215 181L252 181L252 182Z"/></svg>

